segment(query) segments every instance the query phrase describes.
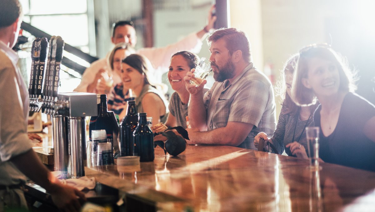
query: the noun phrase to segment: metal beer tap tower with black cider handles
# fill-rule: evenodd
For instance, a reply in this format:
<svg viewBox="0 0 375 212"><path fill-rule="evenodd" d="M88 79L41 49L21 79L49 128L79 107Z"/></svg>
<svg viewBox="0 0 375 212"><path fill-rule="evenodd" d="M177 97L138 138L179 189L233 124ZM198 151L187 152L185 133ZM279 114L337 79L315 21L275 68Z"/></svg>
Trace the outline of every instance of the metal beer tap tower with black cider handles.
<svg viewBox="0 0 375 212"><path fill-rule="evenodd" d="M64 178L85 175L86 116L97 116L95 93L58 93L64 41L36 38L31 48L30 111L52 115L54 170ZM47 55L48 50L48 55ZM83 104L84 103L84 104Z"/></svg>

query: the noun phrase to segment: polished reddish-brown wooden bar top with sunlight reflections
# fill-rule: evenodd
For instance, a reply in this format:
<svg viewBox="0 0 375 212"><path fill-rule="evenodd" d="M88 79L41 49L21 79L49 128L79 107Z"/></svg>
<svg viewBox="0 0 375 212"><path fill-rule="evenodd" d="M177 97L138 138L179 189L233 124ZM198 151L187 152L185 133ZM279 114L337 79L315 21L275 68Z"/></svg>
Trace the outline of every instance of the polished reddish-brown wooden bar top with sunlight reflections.
<svg viewBox="0 0 375 212"><path fill-rule="evenodd" d="M155 148L140 167L86 168L86 176L162 211L374 211L375 172L230 146ZM119 170L119 171L118 171Z"/></svg>

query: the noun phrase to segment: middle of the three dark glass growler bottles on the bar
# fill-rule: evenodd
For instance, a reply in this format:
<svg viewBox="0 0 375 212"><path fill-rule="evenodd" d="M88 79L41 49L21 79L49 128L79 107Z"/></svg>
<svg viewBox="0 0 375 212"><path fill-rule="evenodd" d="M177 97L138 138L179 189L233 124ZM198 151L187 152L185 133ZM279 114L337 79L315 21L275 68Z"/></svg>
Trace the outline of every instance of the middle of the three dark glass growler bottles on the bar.
<svg viewBox="0 0 375 212"><path fill-rule="evenodd" d="M126 116L120 124L121 156L132 156L134 153L133 132L138 125L138 113L135 101L128 101Z"/></svg>

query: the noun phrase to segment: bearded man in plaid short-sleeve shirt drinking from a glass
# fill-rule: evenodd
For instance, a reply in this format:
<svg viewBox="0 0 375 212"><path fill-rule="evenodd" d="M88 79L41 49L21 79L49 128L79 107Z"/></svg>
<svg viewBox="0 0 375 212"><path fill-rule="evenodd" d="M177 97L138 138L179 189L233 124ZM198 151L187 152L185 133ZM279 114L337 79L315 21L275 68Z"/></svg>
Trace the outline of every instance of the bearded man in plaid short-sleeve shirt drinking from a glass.
<svg viewBox="0 0 375 212"><path fill-rule="evenodd" d="M190 93L189 144L255 149L258 132L276 128L275 96L270 80L255 68L246 34L235 28L216 30L208 39L215 82L208 92L184 80Z"/></svg>

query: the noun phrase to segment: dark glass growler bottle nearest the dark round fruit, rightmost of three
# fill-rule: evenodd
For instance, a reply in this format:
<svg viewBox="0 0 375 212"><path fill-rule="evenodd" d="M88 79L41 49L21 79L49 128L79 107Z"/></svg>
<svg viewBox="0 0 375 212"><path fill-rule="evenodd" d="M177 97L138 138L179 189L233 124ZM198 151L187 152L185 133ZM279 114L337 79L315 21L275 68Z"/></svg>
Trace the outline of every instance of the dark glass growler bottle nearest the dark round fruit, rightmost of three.
<svg viewBox="0 0 375 212"><path fill-rule="evenodd" d="M138 113L138 126L133 132L134 155L139 156L139 161L154 161L154 134L147 125L146 113Z"/></svg>

